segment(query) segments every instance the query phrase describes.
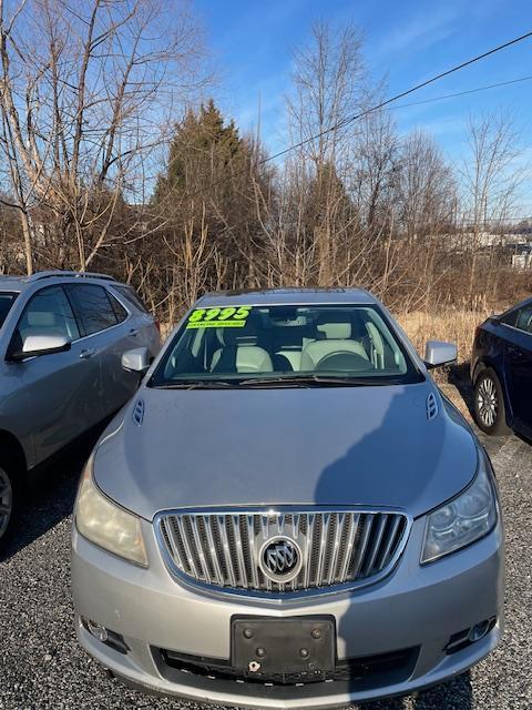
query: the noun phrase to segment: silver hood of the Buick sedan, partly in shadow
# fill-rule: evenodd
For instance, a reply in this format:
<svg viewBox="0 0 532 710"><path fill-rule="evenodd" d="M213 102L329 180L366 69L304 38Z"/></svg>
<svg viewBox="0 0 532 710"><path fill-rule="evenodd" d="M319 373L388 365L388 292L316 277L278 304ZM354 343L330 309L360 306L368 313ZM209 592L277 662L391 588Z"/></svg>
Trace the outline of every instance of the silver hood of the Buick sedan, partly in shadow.
<svg viewBox="0 0 532 710"><path fill-rule="evenodd" d="M94 476L149 520L170 508L276 504L385 506L416 517L477 469L471 430L430 382L143 388L120 419L96 448Z"/></svg>

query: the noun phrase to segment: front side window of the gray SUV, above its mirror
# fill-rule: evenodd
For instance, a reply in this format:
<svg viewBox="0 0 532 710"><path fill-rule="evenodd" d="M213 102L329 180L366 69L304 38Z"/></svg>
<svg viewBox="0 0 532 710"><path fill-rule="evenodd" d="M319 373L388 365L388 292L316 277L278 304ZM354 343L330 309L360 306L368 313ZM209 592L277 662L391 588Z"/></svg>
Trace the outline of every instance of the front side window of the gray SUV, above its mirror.
<svg viewBox="0 0 532 710"><path fill-rule="evenodd" d="M20 345L28 335L62 335L76 341L80 331L62 286L39 291L22 312L14 338Z"/></svg>

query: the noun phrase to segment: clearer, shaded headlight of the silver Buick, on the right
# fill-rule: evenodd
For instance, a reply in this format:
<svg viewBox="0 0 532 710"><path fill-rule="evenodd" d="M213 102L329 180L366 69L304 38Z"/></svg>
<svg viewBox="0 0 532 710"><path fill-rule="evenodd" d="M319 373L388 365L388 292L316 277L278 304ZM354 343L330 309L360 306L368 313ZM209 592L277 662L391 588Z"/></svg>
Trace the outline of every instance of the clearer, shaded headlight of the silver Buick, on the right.
<svg viewBox="0 0 532 710"><path fill-rule="evenodd" d="M483 452L479 452L479 470L463 493L429 514L421 564L454 552L479 540L497 523L497 496Z"/></svg>

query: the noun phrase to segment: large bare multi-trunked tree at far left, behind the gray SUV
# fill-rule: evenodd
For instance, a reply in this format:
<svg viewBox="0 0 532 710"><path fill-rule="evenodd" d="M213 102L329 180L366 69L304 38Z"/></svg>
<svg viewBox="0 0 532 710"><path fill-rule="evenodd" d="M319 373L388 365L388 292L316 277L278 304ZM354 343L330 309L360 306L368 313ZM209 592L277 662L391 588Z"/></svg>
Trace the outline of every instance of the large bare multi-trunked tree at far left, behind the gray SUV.
<svg viewBox="0 0 532 710"><path fill-rule="evenodd" d="M37 253L84 270L115 239L201 59L182 2L0 0L0 141L28 271Z"/></svg>

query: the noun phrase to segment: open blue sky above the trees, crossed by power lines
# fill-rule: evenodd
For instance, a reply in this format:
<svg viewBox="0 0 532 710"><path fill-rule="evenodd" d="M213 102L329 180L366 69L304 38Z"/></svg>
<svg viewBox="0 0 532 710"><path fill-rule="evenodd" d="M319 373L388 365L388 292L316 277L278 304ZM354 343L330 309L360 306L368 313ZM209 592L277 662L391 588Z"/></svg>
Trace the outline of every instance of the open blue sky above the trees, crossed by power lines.
<svg viewBox="0 0 532 710"><path fill-rule="evenodd" d="M532 0L196 0L219 70L216 98L243 130L257 122L270 151L285 146L284 94L291 51L313 20L351 21L365 36L370 75L387 78L389 95L532 30ZM423 89L422 101L532 74L532 40ZM393 111L401 131L422 128L450 160L459 160L471 113L502 108L524 129L523 161L532 161L532 81ZM530 194L532 203L532 193Z"/></svg>

